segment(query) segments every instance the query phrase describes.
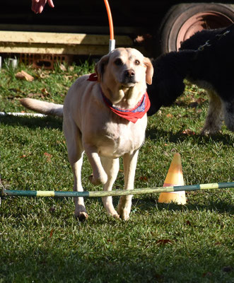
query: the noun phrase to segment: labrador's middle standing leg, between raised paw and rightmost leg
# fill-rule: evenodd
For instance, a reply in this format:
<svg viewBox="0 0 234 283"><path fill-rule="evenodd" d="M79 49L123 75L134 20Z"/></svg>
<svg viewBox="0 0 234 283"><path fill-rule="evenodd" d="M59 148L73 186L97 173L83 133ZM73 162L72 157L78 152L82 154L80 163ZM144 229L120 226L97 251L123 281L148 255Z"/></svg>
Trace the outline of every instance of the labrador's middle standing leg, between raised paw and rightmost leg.
<svg viewBox="0 0 234 283"><path fill-rule="evenodd" d="M103 186L103 190L110 191L112 190L112 186L115 183L117 178L117 174L119 172L119 158L105 158L101 157L101 161L103 164L103 168L105 173L107 173L107 183ZM115 218L119 218L119 214L113 207L112 197L102 197L103 205L107 211L107 214L114 216Z"/></svg>

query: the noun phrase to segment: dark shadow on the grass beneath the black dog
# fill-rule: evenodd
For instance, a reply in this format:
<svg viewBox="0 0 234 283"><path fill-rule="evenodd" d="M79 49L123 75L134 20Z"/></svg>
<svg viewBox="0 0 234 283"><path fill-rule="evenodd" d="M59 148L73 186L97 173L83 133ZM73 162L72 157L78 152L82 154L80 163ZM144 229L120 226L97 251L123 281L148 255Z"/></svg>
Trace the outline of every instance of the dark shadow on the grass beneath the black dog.
<svg viewBox="0 0 234 283"><path fill-rule="evenodd" d="M182 131L172 133L163 130L158 130L155 128L146 129L146 137L151 140L157 140L160 137L163 137L175 144L185 141L187 139L192 139L192 141L199 144L209 144L212 140L222 142L223 144L230 144L230 146L233 145L233 141L230 139L230 136L228 134L212 134L211 136L203 136L201 134L183 134Z"/></svg>

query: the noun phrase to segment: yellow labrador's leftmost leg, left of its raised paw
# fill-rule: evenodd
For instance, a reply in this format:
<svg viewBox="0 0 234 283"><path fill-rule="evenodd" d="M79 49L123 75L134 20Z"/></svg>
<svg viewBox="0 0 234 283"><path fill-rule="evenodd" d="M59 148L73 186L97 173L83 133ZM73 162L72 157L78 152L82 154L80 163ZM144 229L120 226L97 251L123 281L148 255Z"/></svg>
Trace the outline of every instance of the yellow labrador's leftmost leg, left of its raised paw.
<svg viewBox="0 0 234 283"><path fill-rule="evenodd" d="M81 166L83 162L83 146L81 141L81 132L76 127L73 121L67 120L64 117L64 135L66 137L66 146L69 156L69 162L71 164L72 171L74 173L74 192L83 192L81 184ZM83 201L83 197L74 197L75 204L75 216L83 221L88 218L88 213Z"/></svg>

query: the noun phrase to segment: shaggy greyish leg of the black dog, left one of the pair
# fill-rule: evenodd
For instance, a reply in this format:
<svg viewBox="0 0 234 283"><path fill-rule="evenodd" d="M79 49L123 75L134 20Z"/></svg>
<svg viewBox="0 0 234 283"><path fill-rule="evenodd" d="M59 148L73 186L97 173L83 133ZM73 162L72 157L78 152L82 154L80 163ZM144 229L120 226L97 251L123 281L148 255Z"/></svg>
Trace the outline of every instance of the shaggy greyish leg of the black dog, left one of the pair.
<svg viewBox="0 0 234 283"><path fill-rule="evenodd" d="M221 98L213 91L207 91L209 95L209 108L201 134L215 134L220 131L223 120Z"/></svg>

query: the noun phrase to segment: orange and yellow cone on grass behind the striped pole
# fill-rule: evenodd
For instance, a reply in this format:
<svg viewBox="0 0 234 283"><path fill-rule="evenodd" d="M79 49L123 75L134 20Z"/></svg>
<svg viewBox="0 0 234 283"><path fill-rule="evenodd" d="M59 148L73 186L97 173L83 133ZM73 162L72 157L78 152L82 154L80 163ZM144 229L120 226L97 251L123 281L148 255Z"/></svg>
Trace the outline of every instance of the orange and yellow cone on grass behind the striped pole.
<svg viewBox="0 0 234 283"><path fill-rule="evenodd" d="M175 154L170 163L168 175L165 178L163 187L170 187L175 185L185 185L182 163L180 154ZM158 198L158 202L169 203L175 202L177 204L186 204L185 191L182 192L161 192Z"/></svg>

